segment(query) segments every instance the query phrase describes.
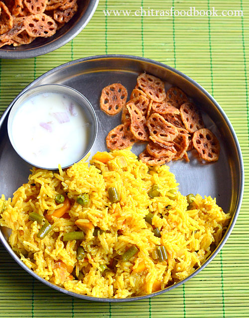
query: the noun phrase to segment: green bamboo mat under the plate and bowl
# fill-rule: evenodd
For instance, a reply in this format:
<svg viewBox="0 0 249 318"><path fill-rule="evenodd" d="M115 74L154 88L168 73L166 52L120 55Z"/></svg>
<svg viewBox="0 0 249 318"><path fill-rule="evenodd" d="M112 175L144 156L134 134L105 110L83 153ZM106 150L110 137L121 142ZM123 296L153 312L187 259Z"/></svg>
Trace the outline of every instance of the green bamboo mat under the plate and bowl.
<svg viewBox="0 0 249 318"><path fill-rule="evenodd" d="M159 297L123 304L64 296L30 277L0 245L0 317L249 317L249 2L246 0L100 0L70 43L28 60L0 62L0 114L27 84L71 60L132 54L177 68L206 88L229 116L243 151L245 195L222 252L200 274ZM103 10L241 10L244 16L105 17ZM132 13L131 13L132 14Z"/></svg>

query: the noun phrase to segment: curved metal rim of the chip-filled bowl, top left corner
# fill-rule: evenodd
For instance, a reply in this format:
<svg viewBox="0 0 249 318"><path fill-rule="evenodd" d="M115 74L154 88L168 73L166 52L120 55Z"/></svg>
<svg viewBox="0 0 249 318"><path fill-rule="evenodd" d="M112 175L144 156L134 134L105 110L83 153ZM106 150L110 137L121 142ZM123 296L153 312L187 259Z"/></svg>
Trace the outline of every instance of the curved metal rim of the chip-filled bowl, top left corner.
<svg viewBox="0 0 249 318"><path fill-rule="evenodd" d="M80 33L80 31L82 31L85 28L85 26L91 20L94 12L96 11L98 3L99 0L90 0L89 5L86 8L86 11L79 19L78 23L74 25L67 33L63 34L60 38L57 38L52 42L32 48L27 51L0 49L0 58L11 60L27 59L46 54L60 48L61 46L71 41L75 36L77 36Z"/></svg>

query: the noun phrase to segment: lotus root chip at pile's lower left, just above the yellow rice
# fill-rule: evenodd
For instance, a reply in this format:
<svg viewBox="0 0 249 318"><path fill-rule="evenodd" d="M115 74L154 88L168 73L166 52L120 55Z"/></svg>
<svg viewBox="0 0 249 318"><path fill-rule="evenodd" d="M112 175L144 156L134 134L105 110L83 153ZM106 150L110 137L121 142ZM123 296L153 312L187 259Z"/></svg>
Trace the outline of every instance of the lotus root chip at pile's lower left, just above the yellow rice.
<svg viewBox="0 0 249 318"><path fill-rule="evenodd" d="M135 142L128 125L121 124L112 129L106 137L107 147L111 150L130 147Z"/></svg>

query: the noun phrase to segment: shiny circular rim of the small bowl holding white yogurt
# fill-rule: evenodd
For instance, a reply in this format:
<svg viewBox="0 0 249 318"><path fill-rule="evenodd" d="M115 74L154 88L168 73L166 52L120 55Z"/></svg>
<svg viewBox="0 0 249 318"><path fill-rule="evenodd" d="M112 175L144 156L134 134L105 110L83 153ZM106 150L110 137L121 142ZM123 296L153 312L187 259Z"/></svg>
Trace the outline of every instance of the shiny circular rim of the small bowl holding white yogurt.
<svg viewBox="0 0 249 318"><path fill-rule="evenodd" d="M65 167L61 167L61 169L66 169L66 168L71 167L73 164L75 164L75 163L81 161L81 160L90 152L90 150L91 150L91 148L92 148L92 146L93 146L93 144L95 143L95 140L96 140L96 138L97 138L97 133L98 133L98 119L97 119L96 112L95 112L95 110L94 110L92 104L89 102L89 100L88 100L83 94L81 94L79 91L75 90L75 89L72 88L72 87L63 85L63 84L42 84L42 85L38 85L38 86L32 87L32 88L30 88L30 89L28 89L28 90L26 90L26 91L24 91L24 92L22 91L22 93L21 93L21 94L19 95L19 97L15 100L15 102L13 103L12 106L14 106L14 105L18 102L18 100L19 100L23 95L27 94L28 92L33 91L33 90L35 90L35 89L37 89L37 88L39 88L39 87L45 87L45 88L46 88L47 86L52 86L52 87L64 87L64 88L66 88L66 90L68 90L68 91L74 91L74 92L76 92L76 93L80 96L81 99L83 99L83 100L86 101L86 104L88 104L88 108L89 108L89 110L91 111L91 113L93 114L93 117L94 117L95 127L94 127L94 132L93 132L93 135L94 135L93 141L91 142L91 144L88 145L86 151L84 152L84 155L81 156L80 159L78 159L77 161L73 162L73 163L70 164L70 165L67 165L67 166L65 166ZM58 89L58 93L59 93L59 90L60 90L60 89ZM48 91L49 91L49 88L48 88ZM40 92L39 94L41 94L41 92ZM64 93L64 94L66 95L66 93ZM80 103L79 103L79 104L80 104ZM82 105L83 105L83 104L80 104L80 106L82 106ZM9 114L11 113L12 109L13 109L13 108L11 107L11 109L9 110ZM11 127L12 127L12 126L11 126ZM12 141L13 141L12 138L10 138L10 130L11 130L11 128L10 128L9 117L8 117L8 121L7 121L7 132L8 132L9 141L10 141L12 147L14 148L15 152L16 152L24 161L26 161L28 164L30 164L30 165L32 165L32 166L34 166L34 167L36 167L36 168L39 168L39 169L58 170L58 167L57 167L57 168L40 167L40 166L34 165L32 162L26 160L26 159L25 159L22 155L20 155L19 152L15 149L15 144L14 144L14 142L12 142Z"/></svg>

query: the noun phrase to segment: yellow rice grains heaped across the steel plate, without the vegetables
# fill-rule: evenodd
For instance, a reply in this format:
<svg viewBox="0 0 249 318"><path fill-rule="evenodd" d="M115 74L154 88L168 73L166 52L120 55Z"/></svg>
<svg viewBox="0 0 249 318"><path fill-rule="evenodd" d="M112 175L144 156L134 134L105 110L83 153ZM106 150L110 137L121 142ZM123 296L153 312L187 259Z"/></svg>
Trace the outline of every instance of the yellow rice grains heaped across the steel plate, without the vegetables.
<svg viewBox="0 0 249 318"><path fill-rule="evenodd" d="M91 165L83 160L56 173L33 168L28 183L14 193L12 200L5 201L2 196L0 225L12 230L12 249L45 280L94 297L149 294L186 278L220 242L229 214L211 197L202 199L196 195L194 210L187 210L187 199L180 192L172 200L169 190L177 189L178 184L166 165L148 167L129 149L113 151L108 156L107 164L94 156ZM148 191L154 184L159 186L160 196L151 199ZM118 189L120 203L110 202L109 187ZM44 239L37 238L41 225L29 220L29 213L53 213L61 206L55 203L55 196L64 193L72 204L70 218L53 218L53 229ZM87 207L76 201L83 193L89 194ZM154 236L152 226L145 222L148 212L154 214L152 225L160 229L161 238ZM84 240L63 242L64 233L79 230L75 225L78 218L88 219L106 231L96 237L93 229L86 229ZM79 245L86 252L80 261L76 259ZM138 253L123 262L121 255L132 245L139 249ZM164 262L151 257L158 245L167 250L168 259ZM115 271L110 266L113 258L118 260ZM56 267L58 261L74 267L75 277ZM137 272L140 263L145 268ZM101 274L102 264L110 268ZM78 279L80 272L82 277Z"/></svg>

